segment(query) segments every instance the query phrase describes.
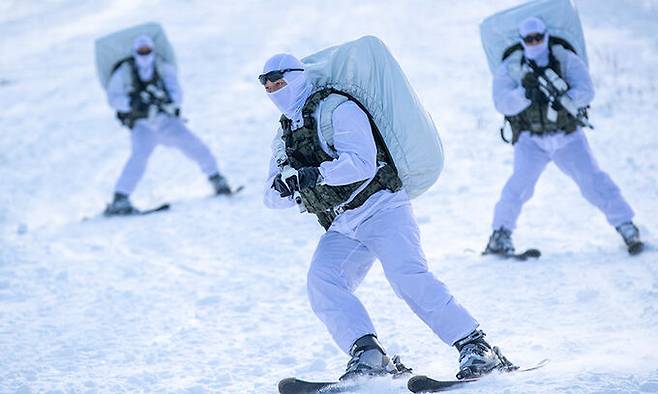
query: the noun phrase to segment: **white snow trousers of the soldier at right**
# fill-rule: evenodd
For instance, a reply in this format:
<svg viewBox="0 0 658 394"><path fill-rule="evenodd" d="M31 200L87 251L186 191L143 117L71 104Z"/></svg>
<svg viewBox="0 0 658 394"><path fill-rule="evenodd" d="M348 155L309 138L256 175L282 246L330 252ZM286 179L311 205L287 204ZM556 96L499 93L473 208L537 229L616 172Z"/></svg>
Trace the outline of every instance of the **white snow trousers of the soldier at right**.
<svg viewBox="0 0 658 394"><path fill-rule="evenodd" d="M605 214L608 223L616 227L631 221L633 210L617 185L599 168L585 133L578 129L544 137L521 134L514 145L514 172L494 211L494 230L501 226L514 230L521 207L532 197L539 175L551 160L576 182L583 197Z"/></svg>

